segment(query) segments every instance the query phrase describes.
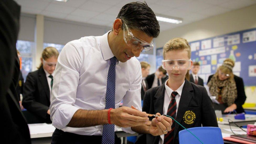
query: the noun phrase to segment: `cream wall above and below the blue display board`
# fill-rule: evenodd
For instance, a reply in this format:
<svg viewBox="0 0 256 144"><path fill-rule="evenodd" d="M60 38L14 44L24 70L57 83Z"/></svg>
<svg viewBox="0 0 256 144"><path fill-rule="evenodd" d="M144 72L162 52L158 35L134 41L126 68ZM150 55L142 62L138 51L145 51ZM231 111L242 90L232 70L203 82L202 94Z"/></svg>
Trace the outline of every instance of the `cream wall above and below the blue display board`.
<svg viewBox="0 0 256 144"><path fill-rule="evenodd" d="M195 41L252 28L256 28L256 5L162 31L156 39L156 47L163 47L168 40L176 37ZM246 102L256 103L255 91L245 87Z"/></svg>

